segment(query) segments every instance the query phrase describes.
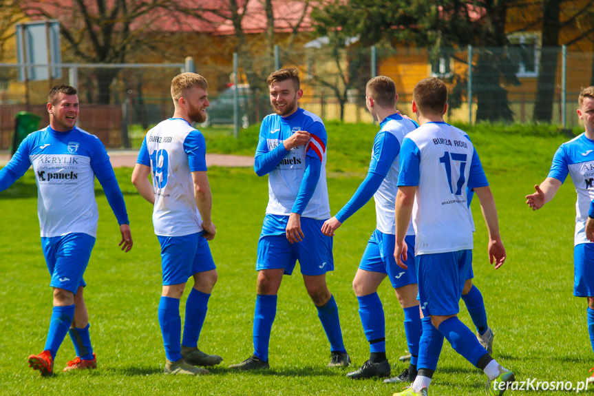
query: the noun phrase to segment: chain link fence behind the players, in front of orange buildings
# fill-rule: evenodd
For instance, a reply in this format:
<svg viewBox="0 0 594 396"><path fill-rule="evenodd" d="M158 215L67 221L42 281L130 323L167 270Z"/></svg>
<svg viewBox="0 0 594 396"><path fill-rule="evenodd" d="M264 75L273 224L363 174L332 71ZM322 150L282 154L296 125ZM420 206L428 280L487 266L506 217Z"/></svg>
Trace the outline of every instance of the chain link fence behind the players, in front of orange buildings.
<svg viewBox="0 0 594 396"><path fill-rule="evenodd" d="M396 107L405 114L412 113L416 82L435 76L449 87L445 118L450 123L552 123L566 128L578 125L577 95L593 84L593 54L564 47L428 50L361 48L355 43L332 48L313 41L302 50L277 48L275 54L275 59L238 58L235 65L231 59L216 67L197 63L196 72L209 81L211 101L202 127L225 125L225 133L231 133L235 119L239 127L262 121L272 111L266 77L277 67L301 71L301 107L325 121L348 123L372 122L365 108L365 83L376 75L394 80ZM58 83L78 88L81 128L107 147L136 148L149 127L173 114L171 79L184 71L184 64L178 63L43 67L59 68L61 77L22 81L25 67L0 64L0 149L10 147L17 112L34 112L43 117L42 126L49 123L47 92Z"/></svg>

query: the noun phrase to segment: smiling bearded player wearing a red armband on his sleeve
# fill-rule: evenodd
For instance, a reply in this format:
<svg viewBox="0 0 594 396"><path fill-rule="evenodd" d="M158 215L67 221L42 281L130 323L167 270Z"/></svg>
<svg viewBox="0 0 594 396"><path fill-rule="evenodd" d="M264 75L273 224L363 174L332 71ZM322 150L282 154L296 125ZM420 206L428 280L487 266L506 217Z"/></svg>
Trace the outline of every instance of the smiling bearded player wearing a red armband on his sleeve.
<svg viewBox="0 0 594 396"><path fill-rule="evenodd" d="M348 366L338 307L326 286L334 270L332 238L321 233L330 218L326 187L326 128L321 118L301 109L299 70L281 69L268 79L275 114L260 127L254 169L268 174L268 207L257 248L257 297L251 357L231 368L268 368L268 342L283 274L299 260L301 273L319 320L330 341L329 367Z"/></svg>

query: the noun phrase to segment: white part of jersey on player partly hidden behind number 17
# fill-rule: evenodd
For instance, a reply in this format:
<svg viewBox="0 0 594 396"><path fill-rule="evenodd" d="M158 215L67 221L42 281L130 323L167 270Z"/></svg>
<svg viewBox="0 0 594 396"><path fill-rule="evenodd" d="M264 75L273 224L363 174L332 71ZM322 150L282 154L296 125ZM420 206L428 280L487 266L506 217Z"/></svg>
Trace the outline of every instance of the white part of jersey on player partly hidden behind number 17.
<svg viewBox="0 0 594 396"><path fill-rule="evenodd" d="M400 145L404 136L409 132L414 131L416 125L411 121L407 121L404 118L390 119L380 130L381 132L387 132L394 135ZM373 157L373 152L372 152ZM389 233L390 235L396 234L396 221L394 218L394 205L396 204L396 194L398 193L398 174L400 169L399 164L400 156L396 156L390 171L383 179L383 182L379 186L379 189L373 195L375 201L375 213L377 229L383 233ZM414 228L412 221L408 227L407 235L414 235Z"/></svg>

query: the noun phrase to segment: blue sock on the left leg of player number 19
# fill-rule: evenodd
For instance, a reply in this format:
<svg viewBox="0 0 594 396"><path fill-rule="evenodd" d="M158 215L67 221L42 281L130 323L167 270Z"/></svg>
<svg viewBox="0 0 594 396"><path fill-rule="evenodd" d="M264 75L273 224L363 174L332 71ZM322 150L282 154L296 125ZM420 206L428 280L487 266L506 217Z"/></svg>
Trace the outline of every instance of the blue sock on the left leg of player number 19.
<svg viewBox="0 0 594 396"><path fill-rule="evenodd" d="M180 338L182 337L182 318L180 300L161 296L159 301L159 326L163 335L165 357L171 362L182 358Z"/></svg>

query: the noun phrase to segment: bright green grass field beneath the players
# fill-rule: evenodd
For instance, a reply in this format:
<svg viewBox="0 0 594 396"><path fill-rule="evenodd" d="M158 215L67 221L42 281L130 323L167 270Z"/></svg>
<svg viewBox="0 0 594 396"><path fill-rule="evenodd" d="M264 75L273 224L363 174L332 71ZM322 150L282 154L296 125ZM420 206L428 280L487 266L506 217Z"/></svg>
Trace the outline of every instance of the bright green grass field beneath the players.
<svg viewBox="0 0 594 396"><path fill-rule="evenodd" d="M350 198L365 174L376 126L328 125L328 186L332 213ZM533 185L547 176L553 153L566 136L552 129L481 125L470 132L494 191L505 266L494 271L486 253L480 209L476 221L474 273L496 333L494 357L522 381L577 384L594 366L586 329L586 300L574 298L573 218L575 192L568 181L537 212L524 203ZM208 138L208 136L207 136ZM257 127L239 140L209 138L209 149L251 155ZM231 148L228 149L231 145ZM0 194L0 395L385 395L402 389L379 379L353 381L348 370L326 368L329 345L299 271L285 277L271 338L271 370L237 373L226 368L252 353L257 238L267 200L267 179L252 169L211 168L213 221L218 233L211 249L219 281L199 347L224 357L212 375L162 375L165 353L157 322L160 296L158 242L151 207L129 182L131 169L117 169L129 211L134 249L118 249L116 220L100 187L99 233L85 280L91 336L99 367L42 378L27 357L43 348L52 307L52 289L41 253L36 186L29 171ZM368 343L351 282L365 243L375 227L373 203L350 218L335 238L335 271L328 274L353 367L368 358ZM190 282L191 283L191 282ZM191 284L189 285L191 286ZM187 295L187 293L185 294ZM397 357L406 348L403 313L388 283L382 284L392 374L405 368ZM182 299L182 309L184 299ZM464 306L460 318L471 324ZM56 372L74 357L67 337L56 357ZM482 395L485 375L444 345L429 395ZM568 392L509 391L510 395L566 395Z"/></svg>

